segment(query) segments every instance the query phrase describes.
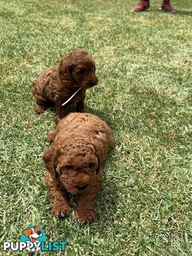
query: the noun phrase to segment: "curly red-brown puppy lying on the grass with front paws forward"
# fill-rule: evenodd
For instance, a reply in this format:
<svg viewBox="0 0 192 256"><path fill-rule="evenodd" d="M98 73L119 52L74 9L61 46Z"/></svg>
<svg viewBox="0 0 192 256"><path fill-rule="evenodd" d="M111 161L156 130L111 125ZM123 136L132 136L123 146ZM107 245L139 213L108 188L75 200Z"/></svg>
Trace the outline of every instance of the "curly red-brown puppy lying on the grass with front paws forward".
<svg viewBox="0 0 192 256"><path fill-rule="evenodd" d="M52 196L51 213L69 214L69 193L79 194L75 218L82 223L95 219L94 205L101 185L101 164L113 146L110 128L99 117L71 113L48 135L52 145L43 155L45 183Z"/></svg>

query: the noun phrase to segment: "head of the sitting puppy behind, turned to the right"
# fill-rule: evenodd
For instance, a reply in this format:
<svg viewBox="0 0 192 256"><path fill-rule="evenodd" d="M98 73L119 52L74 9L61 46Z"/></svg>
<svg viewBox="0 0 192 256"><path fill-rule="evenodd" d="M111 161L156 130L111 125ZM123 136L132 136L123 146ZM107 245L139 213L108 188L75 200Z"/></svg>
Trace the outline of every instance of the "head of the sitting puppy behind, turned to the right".
<svg viewBox="0 0 192 256"><path fill-rule="evenodd" d="M89 52L82 49L71 52L61 61L60 74L73 81L76 87L89 89L98 84L94 60Z"/></svg>

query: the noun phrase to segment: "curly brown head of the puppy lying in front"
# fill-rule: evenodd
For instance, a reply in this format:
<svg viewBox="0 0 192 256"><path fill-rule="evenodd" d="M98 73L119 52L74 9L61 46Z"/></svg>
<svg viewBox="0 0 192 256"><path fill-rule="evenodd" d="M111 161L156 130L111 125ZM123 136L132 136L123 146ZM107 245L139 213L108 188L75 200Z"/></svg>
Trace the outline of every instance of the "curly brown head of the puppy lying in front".
<svg viewBox="0 0 192 256"><path fill-rule="evenodd" d="M97 150L85 138L68 138L65 145L54 143L45 152L43 160L46 169L59 177L71 194L81 194L93 186L100 171L100 157Z"/></svg>

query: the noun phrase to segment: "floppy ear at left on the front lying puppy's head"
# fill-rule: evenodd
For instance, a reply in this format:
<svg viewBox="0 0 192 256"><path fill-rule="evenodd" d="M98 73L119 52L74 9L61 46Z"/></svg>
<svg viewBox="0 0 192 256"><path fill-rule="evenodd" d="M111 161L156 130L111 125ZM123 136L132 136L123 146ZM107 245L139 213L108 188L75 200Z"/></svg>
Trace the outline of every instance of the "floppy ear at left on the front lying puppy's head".
<svg viewBox="0 0 192 256"><path fill-rule="evenodd" d="M51 172L55 177L57 176L57 159L58 159L58 150L55 149L54 143L45 151L42 159L46 166L47 171Z"/></svg>

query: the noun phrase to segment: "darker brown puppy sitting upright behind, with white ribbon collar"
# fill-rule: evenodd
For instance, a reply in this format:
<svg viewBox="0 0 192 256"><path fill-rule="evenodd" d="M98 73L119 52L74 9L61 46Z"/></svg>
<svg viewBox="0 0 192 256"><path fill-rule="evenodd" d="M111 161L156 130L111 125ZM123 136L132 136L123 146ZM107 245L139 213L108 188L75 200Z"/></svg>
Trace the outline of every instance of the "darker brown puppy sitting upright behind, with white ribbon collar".
<svg viewBox="0 0 192 256"><path fill-rule="evenodd" d="M32 85L32 93L41 114L46 107L55 104L59 117L67 115L67 105L76 103L77 112L87 112L84 105L86 89L98 84L95 76L95 63L91 54L77 49L61 62L44 71ZM81 90L65 106L61 106L78 88Z"/></svg>

